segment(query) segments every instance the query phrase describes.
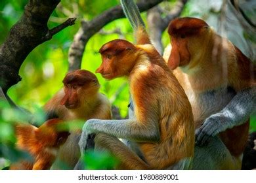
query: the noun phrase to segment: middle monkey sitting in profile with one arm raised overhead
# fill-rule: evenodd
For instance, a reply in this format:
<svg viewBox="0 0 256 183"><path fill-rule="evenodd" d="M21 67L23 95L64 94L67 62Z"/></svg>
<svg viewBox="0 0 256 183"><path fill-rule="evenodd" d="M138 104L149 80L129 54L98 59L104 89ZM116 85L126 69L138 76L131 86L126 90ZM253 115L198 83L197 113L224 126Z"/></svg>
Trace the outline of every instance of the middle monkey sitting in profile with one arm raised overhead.
<svg viewBox="0 0 256 183"><path fill-rule="evenodd" d="M190 169L192 109L144 28L137 27L137 45L116 39L99 52L102 64L96 73L108 80L127 77L135 115L128 120L88 120L79 141L81 152L87 147L88 135L96 133L96 149L119 159L119 169ZM139 155L117 138L131 141Z"/></svg>

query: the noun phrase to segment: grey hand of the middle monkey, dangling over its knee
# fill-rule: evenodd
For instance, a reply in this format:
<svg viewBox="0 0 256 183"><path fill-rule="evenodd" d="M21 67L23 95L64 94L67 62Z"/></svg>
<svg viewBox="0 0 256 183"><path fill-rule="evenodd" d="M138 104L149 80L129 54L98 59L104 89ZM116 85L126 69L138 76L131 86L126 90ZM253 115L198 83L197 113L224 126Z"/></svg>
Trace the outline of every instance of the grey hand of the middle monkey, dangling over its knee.
<svg viewBox="0 0 256 183"><path fill-rule="evenodd" d="M91 120L88 120L85 122L85 125L83 125L83 131L78 142L81 154L84 154L88 148L94 146L94 144L92 145L91 141L93 141L95 135L93 134L93 130L90 129L90 122Z"/></svg>

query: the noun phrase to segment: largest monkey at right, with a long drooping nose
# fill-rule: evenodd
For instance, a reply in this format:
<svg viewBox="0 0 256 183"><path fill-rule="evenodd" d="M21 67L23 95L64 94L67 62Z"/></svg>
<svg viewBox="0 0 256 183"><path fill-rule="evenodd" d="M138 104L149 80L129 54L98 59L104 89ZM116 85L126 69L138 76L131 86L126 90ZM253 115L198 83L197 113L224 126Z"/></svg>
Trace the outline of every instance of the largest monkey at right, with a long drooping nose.
<svg viewBox="0 0 256 183"><path fill-rule="evenodd" d="M249 116L256 108L255 65L198 18L177 18L168 33L172 48L164 58L192 105L196 144L205 146L218 135L234 159L241 160ZM241 161L234 168L240 169Z"/></svg>

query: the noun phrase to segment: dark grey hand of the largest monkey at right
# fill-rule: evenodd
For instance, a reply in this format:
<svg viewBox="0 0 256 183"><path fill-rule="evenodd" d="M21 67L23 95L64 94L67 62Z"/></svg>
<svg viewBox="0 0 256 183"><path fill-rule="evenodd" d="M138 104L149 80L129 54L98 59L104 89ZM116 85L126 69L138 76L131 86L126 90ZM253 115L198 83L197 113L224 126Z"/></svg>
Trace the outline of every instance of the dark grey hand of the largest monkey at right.
<svg viewBox="0 0 256 183"><path fill-rule="evenodd" d="M221 131L225 131L229 127L228 124L232 124L228 122L229 120L221 113L209 116L203 125L196 129L196 145L207 145L212 137Z"/></svg>

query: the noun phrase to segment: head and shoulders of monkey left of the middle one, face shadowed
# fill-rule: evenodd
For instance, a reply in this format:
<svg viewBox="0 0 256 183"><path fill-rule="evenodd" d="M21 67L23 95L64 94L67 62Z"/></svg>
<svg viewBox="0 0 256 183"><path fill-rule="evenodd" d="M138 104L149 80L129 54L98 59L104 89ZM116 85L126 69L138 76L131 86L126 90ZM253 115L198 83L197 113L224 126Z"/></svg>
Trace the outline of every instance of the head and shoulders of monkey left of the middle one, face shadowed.
<svg viewBox="0 0 256 183"><path fill-rule="evenodd" d="M108 99L98 93L100 84L96 76L85 70L68 73L60 90L44 106L46 112L55 112L62 120L110 119Z"/></svg>

